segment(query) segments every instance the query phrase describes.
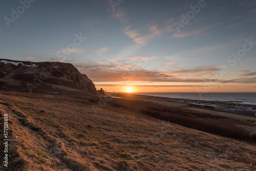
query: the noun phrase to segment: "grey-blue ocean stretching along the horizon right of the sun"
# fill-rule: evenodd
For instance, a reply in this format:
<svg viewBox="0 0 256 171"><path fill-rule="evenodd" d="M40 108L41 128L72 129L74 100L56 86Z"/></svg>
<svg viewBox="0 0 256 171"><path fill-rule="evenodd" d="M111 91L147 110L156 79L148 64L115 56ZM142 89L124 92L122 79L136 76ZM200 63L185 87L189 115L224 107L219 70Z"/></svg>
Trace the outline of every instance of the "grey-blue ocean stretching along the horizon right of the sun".
<svg viewBox="0 0 256 171"><path fill-rule="evenodd" d="M241 104L256 105L256 93L133 93L138 95L158 96L167 98L205 100L205 101L232 101Z"/></svg>

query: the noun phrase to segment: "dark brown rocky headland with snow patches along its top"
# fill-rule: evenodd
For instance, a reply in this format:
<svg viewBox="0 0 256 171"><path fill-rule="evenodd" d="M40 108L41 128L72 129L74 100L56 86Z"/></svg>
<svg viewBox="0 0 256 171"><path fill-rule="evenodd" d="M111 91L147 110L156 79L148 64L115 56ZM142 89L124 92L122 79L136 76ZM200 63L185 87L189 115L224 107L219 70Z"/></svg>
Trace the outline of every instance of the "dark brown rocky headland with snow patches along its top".
<svg viewBox="0 0 256 171"><path fill-rule="evenodd" d="M71 63L10 59L0 59L0 90L97 93L92 80L81 74Z"/></svg>

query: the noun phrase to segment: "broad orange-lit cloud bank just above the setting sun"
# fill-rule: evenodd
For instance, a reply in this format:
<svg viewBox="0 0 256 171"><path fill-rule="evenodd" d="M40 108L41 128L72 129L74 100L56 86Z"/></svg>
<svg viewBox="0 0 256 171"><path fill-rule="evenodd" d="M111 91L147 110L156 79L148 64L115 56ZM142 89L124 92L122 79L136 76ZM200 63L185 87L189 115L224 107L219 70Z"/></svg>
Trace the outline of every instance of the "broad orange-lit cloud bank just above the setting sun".
<svg viewBox="0 0 256 171"><path fill-rule="evenodd" d="M130 59L136 59L131 57ZM150 59L153 57L149 57ZM147 60L146 59L146 60ZM161 70L146 70L139 63L129 63L133 60L69 60L82 73L95 82L120 82L120 81L147 81L147 82L190 82L190 83L256 83L256 78L241 79L214 79L211 77L220 71L220 66L199 66L195 68L163 72ZM170 63L171 64L171 63ZM246 71L240 71L241 73ZM158 87L158 86L154 86ZM191 87L191 86L189 86Z"/></svg>

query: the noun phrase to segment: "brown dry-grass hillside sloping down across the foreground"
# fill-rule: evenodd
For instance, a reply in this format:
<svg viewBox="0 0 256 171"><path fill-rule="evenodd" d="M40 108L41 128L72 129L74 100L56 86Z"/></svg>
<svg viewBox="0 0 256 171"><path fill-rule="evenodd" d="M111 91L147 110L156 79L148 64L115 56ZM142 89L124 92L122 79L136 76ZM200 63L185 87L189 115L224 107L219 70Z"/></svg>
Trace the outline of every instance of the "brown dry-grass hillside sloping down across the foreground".
<svg viewBox="0 0 256 171"><path fill-rule="evenodd" d="M10 139L10 167L1 165L1 170L256 170L253 143L124 110L110 105L111 99L94 99L0 93L0 113L9 113Z"/></svg>

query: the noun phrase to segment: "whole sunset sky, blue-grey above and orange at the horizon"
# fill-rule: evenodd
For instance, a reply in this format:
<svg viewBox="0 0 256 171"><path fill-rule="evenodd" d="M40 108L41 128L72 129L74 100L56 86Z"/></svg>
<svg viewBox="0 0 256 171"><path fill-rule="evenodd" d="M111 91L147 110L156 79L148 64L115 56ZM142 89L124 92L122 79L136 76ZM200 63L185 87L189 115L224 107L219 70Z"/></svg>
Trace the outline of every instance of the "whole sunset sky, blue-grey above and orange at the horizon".
<svg viewBox="0 0 256 171"><path fill-rule="evenodd" d="M4 0L0 58L72 63L107 92L256 92L254 0Z"/></svg>

